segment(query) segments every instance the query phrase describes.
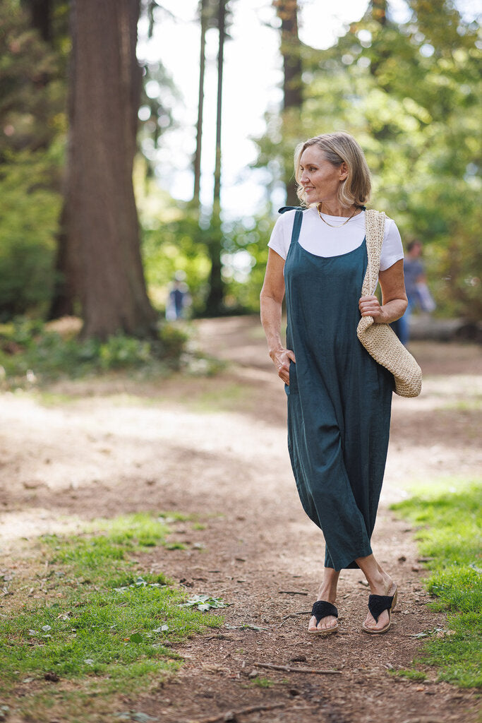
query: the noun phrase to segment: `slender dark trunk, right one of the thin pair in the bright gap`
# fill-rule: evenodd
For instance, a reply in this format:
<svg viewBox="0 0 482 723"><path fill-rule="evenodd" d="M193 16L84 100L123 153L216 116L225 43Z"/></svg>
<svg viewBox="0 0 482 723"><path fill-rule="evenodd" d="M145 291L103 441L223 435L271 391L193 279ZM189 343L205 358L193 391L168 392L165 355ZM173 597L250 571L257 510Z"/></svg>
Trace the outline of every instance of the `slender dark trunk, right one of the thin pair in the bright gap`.
<svg viewBox="0 0 482 723"><path fill-rule="evenodd" d="M218 112L216 118L216 161L214 171L214 194L212 200L211 239L208 246L211 273L210 291L206 301L206 312L215 316L223 312L224 283L221 275L221 253L223 251L223 234L221 230L221 115L223 109L223 62L225 41L226 0L219 0L218 27Z"/></svg>

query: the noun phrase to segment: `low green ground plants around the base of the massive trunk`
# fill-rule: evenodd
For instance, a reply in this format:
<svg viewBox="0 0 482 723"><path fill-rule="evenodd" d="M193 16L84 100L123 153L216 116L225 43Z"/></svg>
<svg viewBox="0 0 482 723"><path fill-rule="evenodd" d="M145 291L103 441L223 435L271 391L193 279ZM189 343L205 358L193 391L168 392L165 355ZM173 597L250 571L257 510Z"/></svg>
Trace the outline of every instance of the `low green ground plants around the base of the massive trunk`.
<svg viewBox="0 0 482 723"><path fill-rule="evenodd" d="M152 341L120 334L107 341L82 341L48 330L43 322L17 317L0 326L0 368L8 388L113 369L178 369L190 361L184 355L186 341L186 331L168 323L159 326Z"/></svg>

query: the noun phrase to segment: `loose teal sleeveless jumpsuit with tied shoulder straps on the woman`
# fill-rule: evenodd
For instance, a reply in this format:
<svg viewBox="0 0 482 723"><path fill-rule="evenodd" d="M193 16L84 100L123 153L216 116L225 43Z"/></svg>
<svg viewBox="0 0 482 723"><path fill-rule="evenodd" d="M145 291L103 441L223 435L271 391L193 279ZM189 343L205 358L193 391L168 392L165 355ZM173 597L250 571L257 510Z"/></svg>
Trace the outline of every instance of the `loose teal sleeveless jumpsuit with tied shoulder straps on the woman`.
<svg viewBox="0 0 482 723"><path fill-rule="evenodd" d="M296 356L285 386L288 450L301 504L323 531L325 567L357 568L371 555L394 380L356 335L366 240L316 256L298 243L302 221L297 210L284 270L286 345Z"/></svg>

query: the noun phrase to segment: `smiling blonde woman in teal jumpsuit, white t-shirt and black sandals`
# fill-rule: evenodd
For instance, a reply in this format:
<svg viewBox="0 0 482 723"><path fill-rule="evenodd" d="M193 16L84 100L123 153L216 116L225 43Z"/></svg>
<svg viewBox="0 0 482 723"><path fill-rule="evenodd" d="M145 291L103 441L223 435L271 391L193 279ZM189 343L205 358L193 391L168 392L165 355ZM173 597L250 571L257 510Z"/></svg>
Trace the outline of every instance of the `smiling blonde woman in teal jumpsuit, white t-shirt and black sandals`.
<svg viewBox="0 0 482 723"><path fill-rule="evenodd" d="M280 210L268 244L261 317L288 395L288 449L298 493L326 544L308 630L336 632L340 570L361 568L371 590L363 630L384 633L397 586L376 562L370 538L387 457L393 377L361 346L356 328L360 315L390 323L405 312L402 242L387 218L382 304L376 296L360 298L367 265L364 204L371 189L361 147L344 132L311 138L296 148L295 178L304 204L301 228L296 210ZM280 336L285 292L286 348Z"/></svg>

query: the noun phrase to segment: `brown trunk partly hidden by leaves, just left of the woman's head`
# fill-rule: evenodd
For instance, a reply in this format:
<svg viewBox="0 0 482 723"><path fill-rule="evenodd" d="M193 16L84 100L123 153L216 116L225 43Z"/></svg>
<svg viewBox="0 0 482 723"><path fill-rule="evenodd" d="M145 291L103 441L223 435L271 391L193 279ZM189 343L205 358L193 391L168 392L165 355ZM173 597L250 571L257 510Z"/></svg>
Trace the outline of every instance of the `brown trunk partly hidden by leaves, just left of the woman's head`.
<svg viewBox="0 0 482 723"><path fill-rule="evenodd" d="M283 56L283 111L286 116L303 104L301 73L301 43L298 37L297 0L275 0L277 16L281 20L281 54ZM293 168L285 170L286 205L299 203Z"/></svg>

